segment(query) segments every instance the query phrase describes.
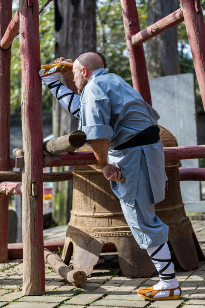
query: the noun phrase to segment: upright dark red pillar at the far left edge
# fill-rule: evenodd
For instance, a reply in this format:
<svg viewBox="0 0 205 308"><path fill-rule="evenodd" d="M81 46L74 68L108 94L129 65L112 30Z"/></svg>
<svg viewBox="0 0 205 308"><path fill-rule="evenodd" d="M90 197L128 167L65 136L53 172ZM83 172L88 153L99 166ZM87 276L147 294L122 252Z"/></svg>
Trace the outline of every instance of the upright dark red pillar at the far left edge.
<svg viewBox="0 0 205 308"><path fill-rule="evenodd" d="M0 0L0 39L12 19L12 0ZM0 49L0 171L8 171L10 157L11 48ZM0 262L8 259L9 196L0 194Z"/></svg>

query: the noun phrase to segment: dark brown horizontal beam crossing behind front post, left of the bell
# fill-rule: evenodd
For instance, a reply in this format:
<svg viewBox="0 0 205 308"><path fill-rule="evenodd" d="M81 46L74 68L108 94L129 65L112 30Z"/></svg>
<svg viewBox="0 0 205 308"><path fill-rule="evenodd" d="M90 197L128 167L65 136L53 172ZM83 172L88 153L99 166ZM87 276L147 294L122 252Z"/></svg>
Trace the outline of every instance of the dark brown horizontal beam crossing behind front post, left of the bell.
<svg viewBox="0 0 205 308"><path fill-rule="evenodd" d="M73 179L72 170L62 172L46 172L43 174L43 182L62 182ZM0 171L0 182L21 182L22 172Z"/></svg>

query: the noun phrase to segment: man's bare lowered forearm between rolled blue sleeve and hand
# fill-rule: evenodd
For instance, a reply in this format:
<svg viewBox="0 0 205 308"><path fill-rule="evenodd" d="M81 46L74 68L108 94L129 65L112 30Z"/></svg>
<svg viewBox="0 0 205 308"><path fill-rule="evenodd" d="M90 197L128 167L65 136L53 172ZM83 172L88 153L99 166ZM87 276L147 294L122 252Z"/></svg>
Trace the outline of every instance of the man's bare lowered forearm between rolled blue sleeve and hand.
<svg viewBox="0 0 205 308"><path fill-rule="evenodd" d="M91 140L91 146L96 157L98 167L100 169L108 165L108 150L109 141L108 139L95 139Z"/></svg>

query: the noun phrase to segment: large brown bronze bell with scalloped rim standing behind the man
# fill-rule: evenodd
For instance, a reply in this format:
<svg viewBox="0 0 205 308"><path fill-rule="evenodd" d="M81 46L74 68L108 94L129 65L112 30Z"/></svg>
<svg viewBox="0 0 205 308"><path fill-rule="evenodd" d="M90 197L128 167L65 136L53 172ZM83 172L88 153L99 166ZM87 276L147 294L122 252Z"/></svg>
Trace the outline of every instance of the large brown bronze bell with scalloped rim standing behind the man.
<svg viewBox="0 0 205 308"><path fill-rule="evenodd" d="M164 146L176 146L175 137L160 127ZM91 150L83 146L80 151ZM202 258L189 218L182 203L178 167L179 161L165 163L169 178L165 200L156 205L156 213L169 225L169 244L180 266L185 270L197 267ZM194 240L193 240L194 239ZM127 277L151 275L155 267L147 251L140 249L124 218L120 201L110 183L97 166L79 166L73 172L73 205L68 223L62 258L73 268L89 275L98 261L102 247L114 243L120 268Z"/></svg>

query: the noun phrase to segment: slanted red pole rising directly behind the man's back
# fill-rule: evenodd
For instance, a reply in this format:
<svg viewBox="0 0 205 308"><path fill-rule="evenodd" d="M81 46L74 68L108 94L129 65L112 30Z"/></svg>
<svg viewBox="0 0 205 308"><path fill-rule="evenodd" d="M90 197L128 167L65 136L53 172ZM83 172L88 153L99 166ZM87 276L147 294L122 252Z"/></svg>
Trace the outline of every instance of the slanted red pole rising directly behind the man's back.
<svg viewBox="0 0 205 308"><path fill-rule="evenodd" d="M133 88L140 92L143 99L152 105L149 80L143 45L134 46L132 36L140 31L139 17L135 0L121 0L123 22L129 51Z"/></svg>

